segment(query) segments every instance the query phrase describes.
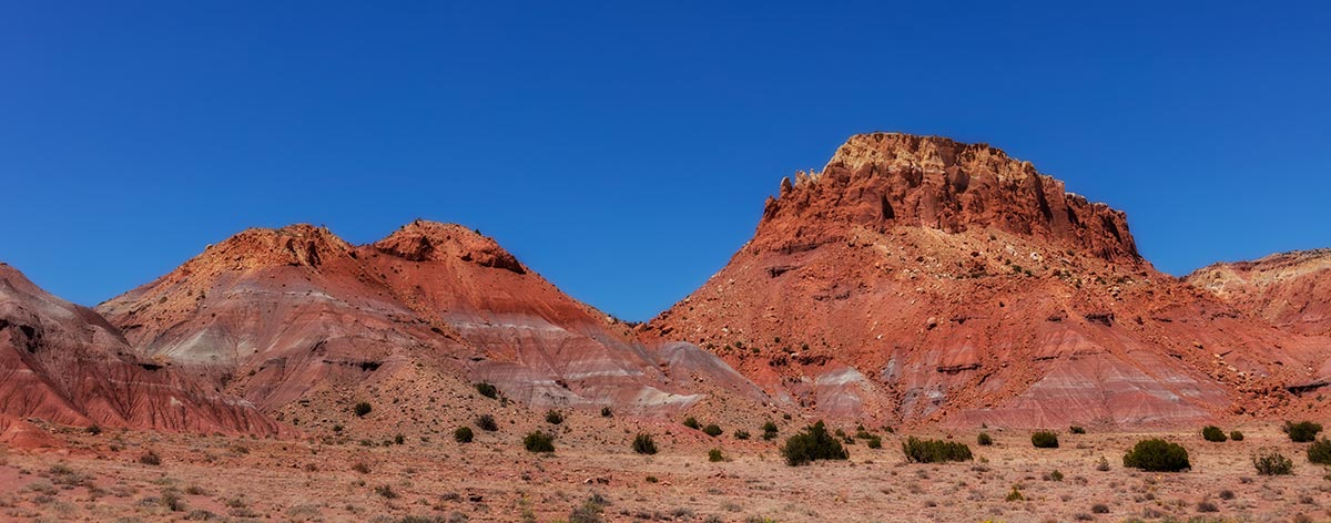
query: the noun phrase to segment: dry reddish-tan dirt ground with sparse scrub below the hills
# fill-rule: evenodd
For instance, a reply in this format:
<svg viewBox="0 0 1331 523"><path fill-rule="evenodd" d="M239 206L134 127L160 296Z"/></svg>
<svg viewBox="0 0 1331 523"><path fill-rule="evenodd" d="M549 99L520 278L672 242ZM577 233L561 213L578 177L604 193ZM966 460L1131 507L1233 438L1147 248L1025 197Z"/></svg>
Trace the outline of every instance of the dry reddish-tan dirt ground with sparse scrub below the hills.
<svg viewBox="0 0 1331 523"><path fill-rule="evenodd" d="M724 426L724 423L723 423ZM527 452L522 433L475 430L462 444L429 440L276 440L65 430L67 447L0 447L4 520L262 522L1122 522L1331 520L1331 471L1272 423L1242 442L1158 434L1187 447L1193 470L1122 467L1143 434L1059 435L1034 448L1028 431L913 434L969 443L966 463L906 463L904 434L882 448L849 444L851 459L789 467L761 429L709 438L667 422L571 419L548 427L554 454ZM736 439L735 429L753 438ZM855 433L855 427L841 427ZM631 450L638 431L660 452ZM720 448L724 460L709 462ZM1294 475L1259 476L1251 455L1278 450ZM154 454L160 464L144 463ZM1099 470L1099 458L1109 462ZM1054 471L1061 474L1057 479ZM1020 500L1008 500L1016 488Z"/></svg>

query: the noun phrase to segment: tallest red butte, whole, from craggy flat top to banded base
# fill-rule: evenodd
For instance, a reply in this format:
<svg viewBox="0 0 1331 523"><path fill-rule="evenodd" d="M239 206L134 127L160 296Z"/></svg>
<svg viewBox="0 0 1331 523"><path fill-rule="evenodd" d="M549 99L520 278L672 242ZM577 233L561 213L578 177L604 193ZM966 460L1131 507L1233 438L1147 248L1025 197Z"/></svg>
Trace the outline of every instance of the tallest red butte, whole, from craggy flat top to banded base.
<svg viewBox="0 0 1331 523"><path fill-rule="evenodd" d="M1331 371L1155 271L1123 213L1029 162L884 133L783 181L753 240L643 335L789 405L893 423L1189 425L1286 409L1286 385Z"/></svg>

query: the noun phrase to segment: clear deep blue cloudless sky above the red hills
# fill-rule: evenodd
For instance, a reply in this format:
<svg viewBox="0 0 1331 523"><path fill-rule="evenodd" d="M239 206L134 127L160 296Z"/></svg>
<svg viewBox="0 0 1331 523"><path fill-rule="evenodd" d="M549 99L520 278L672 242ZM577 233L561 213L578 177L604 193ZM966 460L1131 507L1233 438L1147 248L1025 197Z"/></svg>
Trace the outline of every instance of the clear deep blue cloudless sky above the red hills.
<svg viewBox="0 0 1331 523"><path fill-rule="evenodd" d="M870 130L1030 160L1173 274L1331 246L1324 3L1006 4L0 0L0 260L93 305L425 217L647 319Z"/></svg>

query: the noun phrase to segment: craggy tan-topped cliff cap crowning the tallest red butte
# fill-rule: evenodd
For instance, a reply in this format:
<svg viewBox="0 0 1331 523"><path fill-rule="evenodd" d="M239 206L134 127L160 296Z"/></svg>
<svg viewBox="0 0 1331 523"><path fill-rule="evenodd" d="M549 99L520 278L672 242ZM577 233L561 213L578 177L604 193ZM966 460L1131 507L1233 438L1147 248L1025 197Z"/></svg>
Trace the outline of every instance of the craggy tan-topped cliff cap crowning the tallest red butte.
<svg viewBox="0 0 1331 523"><path fill-rule="evenodd" d="M845 240L851 226L946 233L996 229L1113 262L1137 262L1122 212L1063 190L984 144L896 133L851 137L821 173L781 181L751 246L793 252Z"/></svg>

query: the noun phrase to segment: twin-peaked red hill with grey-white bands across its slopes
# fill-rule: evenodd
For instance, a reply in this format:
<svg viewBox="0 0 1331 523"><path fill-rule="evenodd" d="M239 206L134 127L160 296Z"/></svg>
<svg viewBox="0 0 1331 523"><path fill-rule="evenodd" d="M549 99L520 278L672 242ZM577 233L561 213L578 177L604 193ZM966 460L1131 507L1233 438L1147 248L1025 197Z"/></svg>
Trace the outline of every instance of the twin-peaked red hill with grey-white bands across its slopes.
<svg viewBox="0 0 1331 523"><path fill-rule="evenodd" d="M415 221L362 246L309 225L250 229L98 310L138 351L284 418L341 419L363 399L433 410L431 394L482 381L531 407L669 413L713 390L763 401L724 365L676 373L627 325L458 225ZM716 358L695 347L699 359Z"/></svg>

